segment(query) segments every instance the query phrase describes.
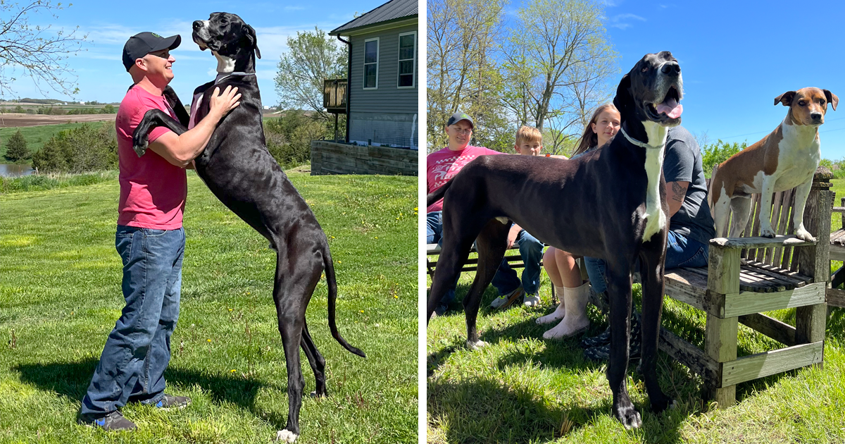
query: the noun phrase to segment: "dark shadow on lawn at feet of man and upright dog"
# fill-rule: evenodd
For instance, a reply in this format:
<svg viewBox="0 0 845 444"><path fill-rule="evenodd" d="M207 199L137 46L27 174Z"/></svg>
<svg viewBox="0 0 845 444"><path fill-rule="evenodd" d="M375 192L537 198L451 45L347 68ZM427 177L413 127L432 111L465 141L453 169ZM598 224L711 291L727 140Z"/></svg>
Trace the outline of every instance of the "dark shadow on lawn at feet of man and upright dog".
<svg viewBox="0 0 845 444"><path fill-rule="evenodd" d="M81 402L88 389L91 375L97 366L97 359L88 358L79 362L53 362L18 365L12 370L20 373L21 381L37 386L41 390L56 392L60 396ZM234 403L254 414L256 412L254 400L259 389L267 386L265 382L254 379L243 379L236 376L212 375L210 373L169 368L165 377L170 386L197 385L210 393L215 403ZM286 381L281 381L286 384ZM276 390L286 392L286 386L275 387ZM269 412L268 412L269 414ZM286 415L287 412L284 412ZM285 418L270 418L275 425L285 424Z"/></svg>

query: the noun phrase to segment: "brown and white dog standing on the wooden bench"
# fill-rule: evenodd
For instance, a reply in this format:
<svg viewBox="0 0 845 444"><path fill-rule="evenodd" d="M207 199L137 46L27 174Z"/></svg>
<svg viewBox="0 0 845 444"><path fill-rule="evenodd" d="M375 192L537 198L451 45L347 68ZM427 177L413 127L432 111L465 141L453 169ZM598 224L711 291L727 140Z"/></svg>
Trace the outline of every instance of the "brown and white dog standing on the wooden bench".
<svg viewBox="0 0 845 444"><path fill-rule="evenodd" d="M804 228L804 206L819 167L819 125L825 123L827 104L835 111L839 98L829 90L802 88L775 97L775 105L778 102L789 111L777 129L722 162L713 176L709 203L719 238L742 233L750 216L750 195L755 193L761 194L760 236L775 237L770 222L772 194L798 187L793 211L795 236L815 240ZM733 209L730 233L729 209Z"/></svg>

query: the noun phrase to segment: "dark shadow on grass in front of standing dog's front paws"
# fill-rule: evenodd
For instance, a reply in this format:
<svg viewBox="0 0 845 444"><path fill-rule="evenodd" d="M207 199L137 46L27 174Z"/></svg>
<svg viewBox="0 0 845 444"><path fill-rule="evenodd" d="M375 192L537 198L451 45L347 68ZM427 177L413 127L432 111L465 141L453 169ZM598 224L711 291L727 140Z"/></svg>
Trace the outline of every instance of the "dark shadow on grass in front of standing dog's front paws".
<svg viewBox="0 0 845 444"><path fill-rule="evenodd" d="M641 435L644 442L681 442L679 432L686 414L643 414L643 427L627 433ZM554 400L538 398L522 387L499 381L428 381L428 421L442 430L446 442L546 442L569 435L585 426L597 425L611 414L611 398L589 407L554 407ZM622 425L613 420L613 425ZM636 438L634 438L636 439ZM639 440L638 440L639 441Z"/></svg>

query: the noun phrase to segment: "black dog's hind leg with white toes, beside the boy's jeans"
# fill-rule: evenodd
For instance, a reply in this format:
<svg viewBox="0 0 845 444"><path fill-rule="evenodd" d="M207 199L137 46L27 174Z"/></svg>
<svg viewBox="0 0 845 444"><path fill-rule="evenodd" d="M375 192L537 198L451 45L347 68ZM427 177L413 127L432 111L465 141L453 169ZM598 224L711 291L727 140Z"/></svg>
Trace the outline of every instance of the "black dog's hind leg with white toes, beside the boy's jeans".
<svg viewBox="0 0 845 444"><path fill-rule="evenodd" d="M490 220L476 238L478 250L478 267L475 280L472 281L470 292L464 297L464 313L466 314L466 347L475 349L487 343L478 339L476 321L481 297L490 282L493 281L499 264L502 263L504 252L508 248L508 230L510 223L502 223L496 219Z"/></svg>

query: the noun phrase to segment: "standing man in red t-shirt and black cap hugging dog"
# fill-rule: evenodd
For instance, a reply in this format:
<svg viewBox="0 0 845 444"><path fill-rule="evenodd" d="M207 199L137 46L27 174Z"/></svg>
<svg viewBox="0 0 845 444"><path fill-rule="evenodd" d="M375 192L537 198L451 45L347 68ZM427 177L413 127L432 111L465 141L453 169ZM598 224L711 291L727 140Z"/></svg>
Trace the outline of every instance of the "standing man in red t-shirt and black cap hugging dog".
<svg viewBox="0 0 845 444"><path fill-rule="evenodd" d="M117 111L120 200L115 246L123 260L126 306L117 320L79 410L79 422L105 430L133 430L117 408L128 402L158 408L184 407L188 397L165 394L164 370L170 362L170 337L179 315L185 232L182 215L188 195L185 167L204 150L217 123L240 102L237 88L215 89L211 110L194 129L177 135L150 131L150 150L139 156L132 134L144 113L175 113L164 96L173 79L170 50L181 36L151 32L132 36L123 47L123 66L132 75Z"/></svg>

